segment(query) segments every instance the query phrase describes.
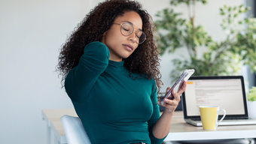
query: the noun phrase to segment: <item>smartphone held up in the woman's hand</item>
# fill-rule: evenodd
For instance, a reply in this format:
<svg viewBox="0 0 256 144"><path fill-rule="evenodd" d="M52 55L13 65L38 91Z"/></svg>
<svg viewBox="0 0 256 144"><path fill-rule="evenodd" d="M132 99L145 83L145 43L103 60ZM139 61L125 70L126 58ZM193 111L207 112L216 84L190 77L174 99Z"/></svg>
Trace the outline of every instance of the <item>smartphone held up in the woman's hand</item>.
<svg viewBox="0 0 256 144"><path fill-rule="evenodd" d="M184 70L183 73L181 74L181 76L178 78L178 80L174 83L172 88L169 90L169 92L166 93L164 98L168 98L170 100L173 100L174 97L172 95L172 90L174 89L176 92L178 92L178 87L181 84L183 85L183 83L187 82L187 80L192 76L192 74L194 74L194 72L195 72L194 69ZM163 105L163 104L165 104L165 102L162 100L162 101L160 101L160 104Z"/></svg>

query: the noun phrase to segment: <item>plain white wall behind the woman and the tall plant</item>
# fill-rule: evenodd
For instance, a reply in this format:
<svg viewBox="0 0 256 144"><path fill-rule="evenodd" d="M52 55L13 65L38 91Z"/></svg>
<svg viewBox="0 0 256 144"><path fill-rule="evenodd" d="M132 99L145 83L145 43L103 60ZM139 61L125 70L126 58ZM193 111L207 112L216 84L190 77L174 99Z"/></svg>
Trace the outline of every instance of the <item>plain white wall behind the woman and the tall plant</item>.
<svg viewBox="0 0 256 144"><path fill-rule="evenodd" d="M157 10L169 0L139 0L154 20ZM59 48L67 34L98 1L93 0L8 0L0 1L0 139L1 143L46 143L42 109L72 108L56 74ZM196 24L203 25L213 39L221 40L218 8L239 5L241 0L209 0L197 6ZM177 11L187 13L181 5ZM184 15L187 17L187 15ZM163 89L170 86L169 71L175 55L161 57Z"/></svg>

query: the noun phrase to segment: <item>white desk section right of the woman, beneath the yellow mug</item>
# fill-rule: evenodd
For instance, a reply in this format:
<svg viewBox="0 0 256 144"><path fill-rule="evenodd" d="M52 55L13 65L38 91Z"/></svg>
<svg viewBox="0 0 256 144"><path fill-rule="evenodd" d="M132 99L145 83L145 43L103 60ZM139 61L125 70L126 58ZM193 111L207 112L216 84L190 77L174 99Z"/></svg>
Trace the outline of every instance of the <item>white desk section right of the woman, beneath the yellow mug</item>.
<svg viewBox="0 0 256 144"><path fill-rule="evenodd" d="M256 124L218 126L216 130L203 130L203 127L187 124L184 121L183 113L178 111L172 118L171 128L165 141L240 138L256 138Z"/></svg>

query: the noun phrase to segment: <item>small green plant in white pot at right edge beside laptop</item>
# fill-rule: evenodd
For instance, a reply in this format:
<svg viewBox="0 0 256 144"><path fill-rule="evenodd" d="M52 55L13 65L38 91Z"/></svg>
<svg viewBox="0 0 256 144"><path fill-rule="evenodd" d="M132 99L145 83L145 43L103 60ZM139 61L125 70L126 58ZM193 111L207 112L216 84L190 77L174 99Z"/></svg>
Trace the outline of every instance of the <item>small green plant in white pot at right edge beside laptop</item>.
<svg viewBox="0 0 256 144"><path fill-rule="evenodd" d="M256 118L256 87L252 87L247 95L249 117Z"/></svg>

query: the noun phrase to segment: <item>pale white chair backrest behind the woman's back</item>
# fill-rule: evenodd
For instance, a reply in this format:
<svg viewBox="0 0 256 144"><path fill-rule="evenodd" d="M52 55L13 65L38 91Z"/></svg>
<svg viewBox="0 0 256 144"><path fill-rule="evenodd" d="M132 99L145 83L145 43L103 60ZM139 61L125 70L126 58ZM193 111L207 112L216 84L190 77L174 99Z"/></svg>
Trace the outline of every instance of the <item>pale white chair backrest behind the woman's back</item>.
<svg viewBox="0 0 256 144"><path fill-rule="evenodd" d="M62 122L68 144L90 144L90 139L81 119L70 115L63 115L60 118Z"/></svg>

